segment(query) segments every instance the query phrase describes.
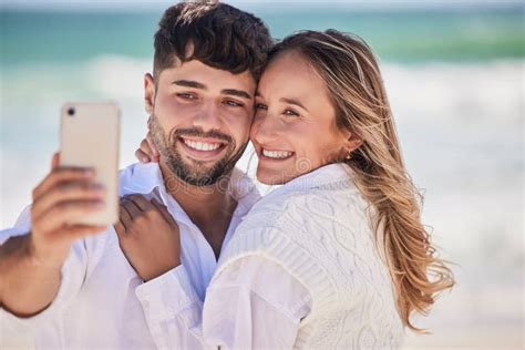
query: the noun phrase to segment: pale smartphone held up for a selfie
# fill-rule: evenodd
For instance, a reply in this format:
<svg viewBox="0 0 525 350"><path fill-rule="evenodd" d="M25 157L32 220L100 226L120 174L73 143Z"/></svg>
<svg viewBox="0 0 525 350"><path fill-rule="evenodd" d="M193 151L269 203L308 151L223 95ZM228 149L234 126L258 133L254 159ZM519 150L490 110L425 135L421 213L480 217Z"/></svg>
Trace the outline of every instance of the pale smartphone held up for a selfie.
<svg viewBox="0 0 525 350"><path fill-rule="evenodd" d="M121 112L115 103L69 102L62 106L60 165L91 167L106 189L105 209L71 224L113 225L119 220Z"/></svg>

